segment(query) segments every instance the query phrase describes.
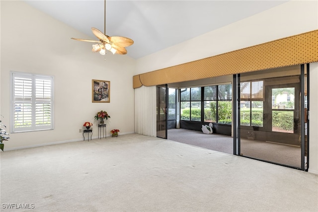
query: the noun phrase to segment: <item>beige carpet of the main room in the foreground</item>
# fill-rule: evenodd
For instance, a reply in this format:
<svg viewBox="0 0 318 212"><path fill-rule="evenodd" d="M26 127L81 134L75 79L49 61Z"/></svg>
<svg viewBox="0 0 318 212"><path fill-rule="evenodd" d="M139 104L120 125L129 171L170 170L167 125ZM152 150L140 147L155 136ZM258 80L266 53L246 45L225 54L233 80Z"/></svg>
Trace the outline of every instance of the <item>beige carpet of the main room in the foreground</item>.
<svg viewBox="0 0 318 212"><path fill-rule="evenodd" d="M318 210L317 175L138 134L0 156L3 212Z"/></svg>

